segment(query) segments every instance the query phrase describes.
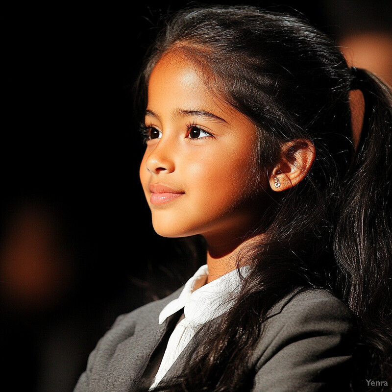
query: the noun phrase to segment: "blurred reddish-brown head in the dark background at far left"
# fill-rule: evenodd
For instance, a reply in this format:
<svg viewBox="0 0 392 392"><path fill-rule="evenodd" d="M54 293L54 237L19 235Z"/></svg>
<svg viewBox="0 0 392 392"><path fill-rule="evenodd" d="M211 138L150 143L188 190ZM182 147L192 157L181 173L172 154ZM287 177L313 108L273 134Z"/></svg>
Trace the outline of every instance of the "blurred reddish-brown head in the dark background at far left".
<svg viewBox="0 0 392 392"><path fill-rule="evenodd" d="M5 224L0 248L2 306L25 314L56 307L74 280L73 258L57 217L42 203L20 203Z"/></svg>

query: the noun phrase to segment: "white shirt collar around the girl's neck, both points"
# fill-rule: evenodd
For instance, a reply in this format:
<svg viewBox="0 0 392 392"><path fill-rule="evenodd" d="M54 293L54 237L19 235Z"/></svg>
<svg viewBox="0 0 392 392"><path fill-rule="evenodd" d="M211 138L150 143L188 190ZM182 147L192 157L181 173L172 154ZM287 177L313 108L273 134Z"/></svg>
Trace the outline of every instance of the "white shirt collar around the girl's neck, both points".
<svg viewBox="0 0 392 392"><path fill-rule="evenodd" d="M242 274L244 268L240 269ZM238 270L230 271L210 283L206 283L208 266L201 266L185 284L178 298L173 299L159 315L159 324L184 308L184 315L191 324L203 324L227 312L238 293L241 278ZM201 285L201 287L200 287ZM199 287L194 290L194 287Z"/></svg>

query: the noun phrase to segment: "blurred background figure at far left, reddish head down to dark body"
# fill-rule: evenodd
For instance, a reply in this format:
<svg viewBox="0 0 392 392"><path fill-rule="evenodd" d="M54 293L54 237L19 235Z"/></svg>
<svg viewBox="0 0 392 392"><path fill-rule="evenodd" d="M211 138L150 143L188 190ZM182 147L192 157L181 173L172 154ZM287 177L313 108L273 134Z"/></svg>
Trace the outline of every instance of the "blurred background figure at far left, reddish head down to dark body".
<svg viewBox="0 0 392 392"><path fill-rule="evenodd" d="M84 358L80 318L65 322L78 273L72 246L43 200L24 199L2 218L2 371L21 390L67 391Z"/></svg>

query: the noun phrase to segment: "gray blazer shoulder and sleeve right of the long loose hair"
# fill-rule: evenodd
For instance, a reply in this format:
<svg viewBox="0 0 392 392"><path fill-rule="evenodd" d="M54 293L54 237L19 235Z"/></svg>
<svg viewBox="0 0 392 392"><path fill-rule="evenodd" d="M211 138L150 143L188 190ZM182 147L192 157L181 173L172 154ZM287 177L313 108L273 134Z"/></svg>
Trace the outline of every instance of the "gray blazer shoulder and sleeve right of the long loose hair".
<svg viewBox="0 0 392 392"><path fill-rule="evenodd" d="M294 291L263 324L253 358L256 385L268 385L269 391L293 391L293 386L346 391L355 343L354 317L341 300L324 289Z"/></svg>

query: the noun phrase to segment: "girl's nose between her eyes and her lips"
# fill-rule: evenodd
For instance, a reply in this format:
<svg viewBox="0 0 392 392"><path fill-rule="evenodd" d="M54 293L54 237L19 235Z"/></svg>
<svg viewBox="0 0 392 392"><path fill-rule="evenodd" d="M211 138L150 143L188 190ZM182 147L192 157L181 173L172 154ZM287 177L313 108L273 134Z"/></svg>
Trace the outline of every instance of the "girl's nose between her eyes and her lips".
<svg viewBox="0 0 392 392"><path fill-rule="evenodd" d="M150 173L159 172L171 173L174 171L173 147L168 140L161 139L153 149L147 147L146 168Z"/></svg>

